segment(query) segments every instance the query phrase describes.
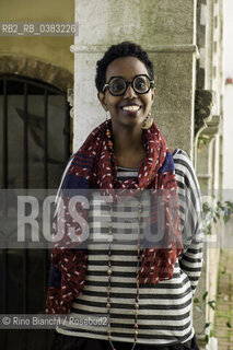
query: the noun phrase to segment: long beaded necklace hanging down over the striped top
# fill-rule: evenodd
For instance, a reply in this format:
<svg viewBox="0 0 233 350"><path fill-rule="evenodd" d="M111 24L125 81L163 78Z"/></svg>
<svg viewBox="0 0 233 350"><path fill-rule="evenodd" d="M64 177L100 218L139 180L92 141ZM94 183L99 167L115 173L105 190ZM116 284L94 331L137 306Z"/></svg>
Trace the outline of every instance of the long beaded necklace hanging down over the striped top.
<svg viewBox="0 0 233 350"><path fill-rule="evenodd" d="M110 140L110 130L106 130L106 136L108 138L108 147L110 152L113 152L113 142ZM141 198L139 200L138 205L138 244L137 244L137 279L136 279L136 299L135 299L135 335L133 335L133 345L131 350L136 348L136 343L138 340L138 310L139 310L139 269L140 269L140 260L141 260L141 255L140 255L140 233L141 233L141 214L142 214L142 201ZM110 343L110 347L113 350L116 350L116 348L113 345L112 341L112 330L110 330L110 290L112 290L112 241L113 241L113 205L109 207L109 230L108 230L108 268L107 268L107 276L108 276L108 285L107 285L107 319L108 319L108 325L107 325L107 334L108 334L108 341Z"/></svg>

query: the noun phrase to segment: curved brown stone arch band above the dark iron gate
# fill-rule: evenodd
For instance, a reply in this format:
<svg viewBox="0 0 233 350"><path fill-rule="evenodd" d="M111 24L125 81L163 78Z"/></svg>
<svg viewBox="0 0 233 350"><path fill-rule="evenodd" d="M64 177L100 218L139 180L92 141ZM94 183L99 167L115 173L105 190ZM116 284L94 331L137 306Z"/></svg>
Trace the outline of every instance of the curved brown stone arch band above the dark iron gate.
<svg viewBox="0 0 233 350"><path fill-rule="evenodd" d="M0 55L0 74L38 79L65 92L73 86L69 70L23 55Z"/></svg>

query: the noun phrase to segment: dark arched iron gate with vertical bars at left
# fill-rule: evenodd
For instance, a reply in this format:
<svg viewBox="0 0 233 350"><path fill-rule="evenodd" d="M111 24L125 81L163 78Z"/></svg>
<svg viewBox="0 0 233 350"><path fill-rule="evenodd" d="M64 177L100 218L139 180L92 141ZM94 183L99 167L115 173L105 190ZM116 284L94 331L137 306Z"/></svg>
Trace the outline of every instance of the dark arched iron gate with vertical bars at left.
<svg viewBox="0 0 233 350"><path fill-rule="evenodd" d="M67 94L42 81L0 75L1 188L57 188L70 155ZM47 249L0 250L0 313L44 313ZM5 350L49 349L47 330L0 330Z"/></svg>

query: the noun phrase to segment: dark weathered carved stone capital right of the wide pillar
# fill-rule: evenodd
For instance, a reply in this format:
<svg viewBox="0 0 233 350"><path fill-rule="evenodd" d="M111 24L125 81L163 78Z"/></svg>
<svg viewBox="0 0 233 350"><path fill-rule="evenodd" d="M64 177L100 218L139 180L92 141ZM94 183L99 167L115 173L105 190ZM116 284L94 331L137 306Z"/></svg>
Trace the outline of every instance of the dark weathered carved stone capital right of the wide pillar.
<svg viewBox="0 0 233 350"><path fill-rule="evenodd" d="M211 120L213 92L209 90L196 90L195 94L195 136L199 133Z"/></svg>

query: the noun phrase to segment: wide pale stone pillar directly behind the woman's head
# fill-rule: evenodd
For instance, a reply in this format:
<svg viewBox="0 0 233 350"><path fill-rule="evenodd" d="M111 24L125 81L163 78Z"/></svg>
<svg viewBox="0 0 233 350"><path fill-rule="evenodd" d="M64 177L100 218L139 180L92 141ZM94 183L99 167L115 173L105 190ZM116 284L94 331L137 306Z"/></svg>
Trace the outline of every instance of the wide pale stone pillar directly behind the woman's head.
<svg viewBox="0 0 233 350"><path fill-rule="evenodd" d="M74 147L105 120L94 86L96 60L113 44L140 44L154 62L152 110L171 148L191 155L196 74L195 0L75 0Z"/></svg>

